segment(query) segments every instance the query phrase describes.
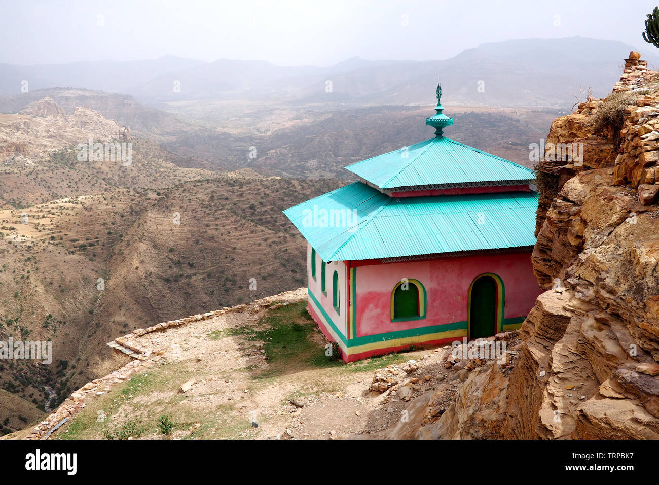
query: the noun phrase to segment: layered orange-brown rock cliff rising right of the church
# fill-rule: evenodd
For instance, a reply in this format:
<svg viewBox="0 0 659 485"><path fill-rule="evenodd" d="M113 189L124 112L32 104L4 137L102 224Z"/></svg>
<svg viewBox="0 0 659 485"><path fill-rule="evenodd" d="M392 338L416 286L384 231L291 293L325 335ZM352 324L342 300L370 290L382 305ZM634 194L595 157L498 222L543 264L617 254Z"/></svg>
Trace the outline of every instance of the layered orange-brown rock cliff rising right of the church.
<svg viewBox="0 0 659 485"><path fill-rule="evenodd" d="M546 292L513 371L471 372L416 437L659 439L659 75L639 57L611 96L552 123L548 145L580 148L539 164Z"/></svg>

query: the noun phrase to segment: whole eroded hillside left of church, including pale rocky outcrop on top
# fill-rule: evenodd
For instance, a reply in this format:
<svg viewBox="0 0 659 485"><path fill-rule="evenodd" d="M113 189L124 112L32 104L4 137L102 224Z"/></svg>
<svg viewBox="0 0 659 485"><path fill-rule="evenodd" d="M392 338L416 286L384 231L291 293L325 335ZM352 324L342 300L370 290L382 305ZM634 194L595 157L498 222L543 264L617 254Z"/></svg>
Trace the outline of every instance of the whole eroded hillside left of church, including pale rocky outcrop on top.
<svg viewBox="0 0 659 485"><path fill-rule="evenodd" d="M281 210L340 185L182 168L128 127L48 99L2 116L0 340L51 340L53 363L1 365L14 396L0 400L0 432L96 377L107 340L154 315L300 286L305 245ZM88 137L130 143L130 165L80 160Z"/></svg>

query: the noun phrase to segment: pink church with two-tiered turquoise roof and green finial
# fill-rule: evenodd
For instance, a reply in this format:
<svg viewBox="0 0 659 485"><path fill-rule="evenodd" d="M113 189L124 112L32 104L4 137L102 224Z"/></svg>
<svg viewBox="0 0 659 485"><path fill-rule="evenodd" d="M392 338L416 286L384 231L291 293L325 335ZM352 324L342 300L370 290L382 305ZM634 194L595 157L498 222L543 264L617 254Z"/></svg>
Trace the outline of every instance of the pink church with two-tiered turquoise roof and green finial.
<svg viewBox="0 0 659 485"><path fill-rule="evenodd" d="M534 172L445 137L441 96L434 138L284 211L308 242L308 309L345 362L517 329L541 292Z"/></svg>

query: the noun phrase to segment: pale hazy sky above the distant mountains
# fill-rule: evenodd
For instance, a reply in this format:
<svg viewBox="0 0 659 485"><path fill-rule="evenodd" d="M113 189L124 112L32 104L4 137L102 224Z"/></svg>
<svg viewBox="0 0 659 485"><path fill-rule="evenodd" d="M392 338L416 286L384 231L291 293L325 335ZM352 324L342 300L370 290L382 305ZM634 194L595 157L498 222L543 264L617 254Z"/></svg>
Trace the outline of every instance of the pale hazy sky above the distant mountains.
<svg viewBox="0 0 659 485"><path fill-rule="evenodd" d="M0 62L162 55L327 66L446 59L481 42L583 36L654 49L639 0L0 0Z"/></svg>

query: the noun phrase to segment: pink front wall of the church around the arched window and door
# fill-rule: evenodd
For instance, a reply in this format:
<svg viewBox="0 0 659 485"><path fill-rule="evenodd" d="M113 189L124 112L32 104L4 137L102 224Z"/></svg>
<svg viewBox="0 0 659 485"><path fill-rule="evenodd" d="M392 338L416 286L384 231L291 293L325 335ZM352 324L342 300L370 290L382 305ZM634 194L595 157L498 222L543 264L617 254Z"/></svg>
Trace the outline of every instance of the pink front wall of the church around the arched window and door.
<svg viewBox="0 0 659 485"><path fill-rule="evenodd" d="M503 280L504 318L525 317L542 292L530 255L529 251L359 266L356 336L467 321L469 286L482 273L495 273ZM391 322L391 291L402 278L415 278L426 288L425 319Z"/></svg>

